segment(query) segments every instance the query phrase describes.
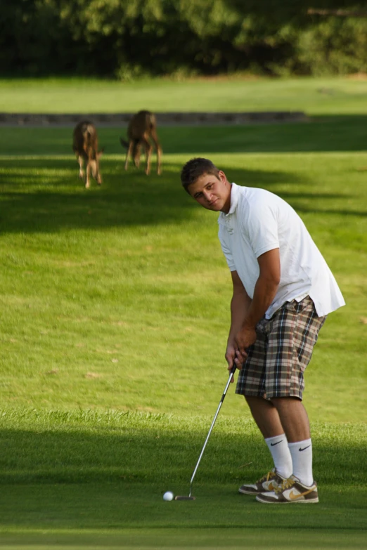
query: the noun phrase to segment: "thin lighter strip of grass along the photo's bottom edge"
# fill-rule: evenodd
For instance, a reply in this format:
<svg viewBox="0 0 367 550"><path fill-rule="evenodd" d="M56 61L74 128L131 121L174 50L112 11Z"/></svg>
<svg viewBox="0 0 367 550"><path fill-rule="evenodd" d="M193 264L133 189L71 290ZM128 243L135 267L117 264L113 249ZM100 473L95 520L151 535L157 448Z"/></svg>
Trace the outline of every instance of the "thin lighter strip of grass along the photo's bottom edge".
<svg viewBox="0 0 367 550"><path fill-rule="evenodd" d="M87 532L80 533L57 533L48 535L46 533L27 535L4 536L1 546L11 548L11 550L25 550L28 548L49 549L51 545L56 544L58 550L79 550L87 547L89 550L102 550L108 548L132 549L198 549L207 550L231 548L231 550L242 550L248 548L252 550L278 550L285 548L293 540L292 544L300 549L364 549L366 546L366 533L361 531L351 536L348 530L340 530L337 537L328 535L323 530L297 529L297 535L293 535L290 529L278 530L276 542L274 534L271 531L262 530L261 539L259 529L244 528L231 530L228 536L227 530L221 528L208 529L155 529L151 530L131 529L124 530L124 533ZM294 542L297 537L297 542ZM26 542L25 542L26 541Z"/></svg>

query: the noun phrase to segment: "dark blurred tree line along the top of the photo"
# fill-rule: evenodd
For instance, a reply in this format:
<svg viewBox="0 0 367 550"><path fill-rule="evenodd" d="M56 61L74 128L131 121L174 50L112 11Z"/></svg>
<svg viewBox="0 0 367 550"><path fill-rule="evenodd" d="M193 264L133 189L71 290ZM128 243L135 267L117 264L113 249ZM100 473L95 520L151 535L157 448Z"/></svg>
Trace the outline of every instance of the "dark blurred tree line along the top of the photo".
<svg viewBox="0 0 367 550"><path fill-rule="evenodd" d="M0 71L120 80L367 72L367 8L347 0L4 1Z"/></svg>

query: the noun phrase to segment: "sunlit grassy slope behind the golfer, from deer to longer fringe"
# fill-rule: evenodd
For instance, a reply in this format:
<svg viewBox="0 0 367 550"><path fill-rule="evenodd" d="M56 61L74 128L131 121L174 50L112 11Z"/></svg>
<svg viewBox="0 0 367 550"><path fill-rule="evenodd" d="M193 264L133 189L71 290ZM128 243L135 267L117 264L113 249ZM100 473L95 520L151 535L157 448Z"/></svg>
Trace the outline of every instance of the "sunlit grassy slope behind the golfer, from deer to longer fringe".
<svg viewBox="0 0 367 550"><path fill-rule="evenodd" d="M330 131L342 145L337 124ZM231 149L231 128L196 129L190 147L210 153L231 181L278 193L304 219L347 300L321 332L305 401L312 420L363 421L367 158L358 150L307 152L323 145L321 133L303 134L311 126L297 125L306 152L287 152L286 125L272 142L279 149L285 136L285 152L207 151L205 136L216 131ZM361 131L356 121L354 128ZM271 149L272 129L249 131L259 140L263 132ZM101 133L113 151L118 133ZM226 377L231 283L217 216L181 190L179 169L191 155L169 153L179 150L181 133L161 129L168 150L161 177L126 173L122 154L106 152L103 186L90 192L67 154L69 134L2 133L2 402L210 414ZM46 140L58 143L58 154L35 153ZM16 155L30 145L30 155ZM238 396L229 401L229 414L248 414Z"/></svg>

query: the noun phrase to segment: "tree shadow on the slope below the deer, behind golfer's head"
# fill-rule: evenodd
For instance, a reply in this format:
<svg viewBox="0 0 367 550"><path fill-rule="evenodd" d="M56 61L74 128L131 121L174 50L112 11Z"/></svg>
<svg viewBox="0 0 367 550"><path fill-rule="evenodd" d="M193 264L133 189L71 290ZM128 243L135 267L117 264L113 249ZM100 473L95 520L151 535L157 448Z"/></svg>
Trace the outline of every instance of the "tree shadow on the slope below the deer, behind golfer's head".
<svg viewBox="0 0 367 550"><path fill-rule="evenodd" d="M41 163L41 166L40 166ZM162 176L147 177L142 170L124 172L122 165L105 158L104 178L90 190L70 169L66 159L17 159L3 161L6 177L0 182L1 233L54 233L63 229L102 229L184 223L197 204L181 188L181 164L168 164ZM308 184L307 178L290 172L232 169L222 166L232 181L271 190L277 184ZM312 202L302 210L302 200L314 195L301 190L280 194L301 211L318 211ZM321 193L320 199L343 199L337 193ZM325 212L325 210L323 211ZM345 214L359 214L345 211Z"/></svg>

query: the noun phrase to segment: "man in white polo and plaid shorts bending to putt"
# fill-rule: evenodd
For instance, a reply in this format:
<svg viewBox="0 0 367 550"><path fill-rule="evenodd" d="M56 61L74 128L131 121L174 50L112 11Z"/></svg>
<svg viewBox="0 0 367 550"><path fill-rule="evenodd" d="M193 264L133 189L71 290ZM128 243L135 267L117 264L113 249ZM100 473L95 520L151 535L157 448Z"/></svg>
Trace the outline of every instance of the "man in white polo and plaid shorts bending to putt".
<svg viewBox="0 0 367 550"><path fill-rule="evenodd" d="M259 502L318 502L309 419L302 404L304 369L326 315L345 305L326 261L300 216L273 193L229 183L202 158L181 183L202 207L220 212L219 240L233 297L228 370L240 369L245 396L274 468L240 492Z"/></svg>

